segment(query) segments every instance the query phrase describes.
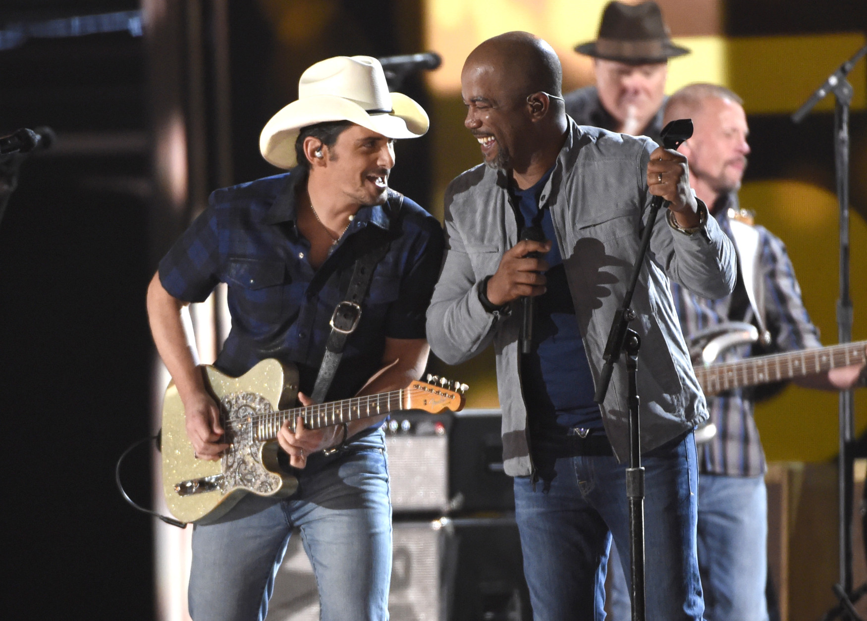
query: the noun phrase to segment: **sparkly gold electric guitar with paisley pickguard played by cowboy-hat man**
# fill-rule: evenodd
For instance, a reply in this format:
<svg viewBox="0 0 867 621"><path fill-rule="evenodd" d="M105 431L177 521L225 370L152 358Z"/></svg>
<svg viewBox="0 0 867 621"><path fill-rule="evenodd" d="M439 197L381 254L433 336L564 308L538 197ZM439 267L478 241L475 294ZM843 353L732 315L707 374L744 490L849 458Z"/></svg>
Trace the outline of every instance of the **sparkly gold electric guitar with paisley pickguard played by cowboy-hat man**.
<svg viewBox="0 0 867 621"><path fill-rule="evenodd" d="M266 359L239 378L210 365L199 368L219 405L230 446L219 461L196 458L186 436L184 406L171 383L163 401L161 450L169 511L180 521L203 524L225 514L247 493L283 498L295 492L297 479L277 463L277 431L285 421L294 430L301 417L304 427L321 429L394 411L460 411L467 388L443 378L439 385L411 382L398 391L293 407L298 391L294 365Z"/></svg>

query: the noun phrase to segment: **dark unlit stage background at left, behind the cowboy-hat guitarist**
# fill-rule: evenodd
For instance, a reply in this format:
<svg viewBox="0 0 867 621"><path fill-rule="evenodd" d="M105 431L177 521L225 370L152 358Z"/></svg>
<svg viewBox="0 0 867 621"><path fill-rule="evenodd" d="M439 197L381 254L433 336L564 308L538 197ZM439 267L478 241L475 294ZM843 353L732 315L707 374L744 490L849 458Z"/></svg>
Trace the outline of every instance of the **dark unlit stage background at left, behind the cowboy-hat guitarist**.
<svg viewBox="0 0 867 621"><path fill-rule="evenodd" d="M212 3L173 3L186 27L202 23L205 56ZM228 3L231 151L228 183L276 174L258 153L258 133L297 95L312 62L338 54L399 53L389 2L336 3L330 35L297 68L275 61L280 42L265 3ZM47 20L139 10L134 0L3 0L0 30ZM197 12L198 11L198 12ZM194 14L195 13L195 14ZM8 38L5 40L8 42ZM193 109L189 42L153 55L129 32L30 37L0 49L0 135L50 126L55 146L20 166L0 222L0 369L10 430L10 494L4 555L10 568L3 614L28 618L154 618L153 519L114 486L123 450L153 432L153 344L145 292L156 261L198 205L170 213L155 173L156 84L179 74L179 106L205 115L204 191L225 184L213 152L214 83L205 58L204 108ZM285 46L284 46L285 47ZM285 52L285 49L283 50ZM417 51L415 49L409 51ZM167 63L167 64L166 64ZM295 71L293 74L292 72ZM278 80L274 79L278 74ZM420 80L403 92L425 103ZM427 195L427 146L398 146L414 161L394 187ZM224 181L224 183L219 183ZM169 211L167 213L167 211ZM150 506L144 451L123 469L127 492Z"/></svg>

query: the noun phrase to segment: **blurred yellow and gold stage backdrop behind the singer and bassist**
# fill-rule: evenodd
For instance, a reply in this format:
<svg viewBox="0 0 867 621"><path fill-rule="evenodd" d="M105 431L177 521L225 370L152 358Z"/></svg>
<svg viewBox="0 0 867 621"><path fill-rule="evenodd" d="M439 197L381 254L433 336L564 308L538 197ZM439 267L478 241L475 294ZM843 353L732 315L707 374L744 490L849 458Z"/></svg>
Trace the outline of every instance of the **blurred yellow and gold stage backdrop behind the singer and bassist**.
<svg viewBox="0 0 867 621"><path fill-rule="evenodd" d="M430 209L442 217L448 182L479 164L479 147L463 126L460 69L466 55L490 36L527 30L550 42L564 68L564 91L592 83L589 58L577 55L579 42L596 38L605 0L428 0L422 3L425 49L440 53L442 66L427 74L432 94L433 191ZM723 3L716 0L660 0L675 42L692 55L669 62L669 93L693 81L725 84L756 115L792 113L812 91L862 45L864 33L797 36L728 37L722 34ZM864 110L867 72L858 63L850 81L853 110ZM827 113L826 98L814 113ZM792 132L796 127L792 126ZM831 135L827 137L830 141ZM867 177L864 145L853 145L853 184ZM858 171L860 166L862 170ZM799 275L807 309L821 329L823 342L837 342L835 304L838 298L838 224L836 198L792 171L783 179L753 181L741 191L741 202L756 212L756 222L786 241ZM851 212L851 295L855 304L854 340L867 339L867 227ZM469 407L498 405L492 350L477 359L436 369L471 385ZM867 395L856 398L856 426L867 427ZM837 395L790 386L779 397L759 405L757 422L769 459L819 461L837 452Z"/></svg>

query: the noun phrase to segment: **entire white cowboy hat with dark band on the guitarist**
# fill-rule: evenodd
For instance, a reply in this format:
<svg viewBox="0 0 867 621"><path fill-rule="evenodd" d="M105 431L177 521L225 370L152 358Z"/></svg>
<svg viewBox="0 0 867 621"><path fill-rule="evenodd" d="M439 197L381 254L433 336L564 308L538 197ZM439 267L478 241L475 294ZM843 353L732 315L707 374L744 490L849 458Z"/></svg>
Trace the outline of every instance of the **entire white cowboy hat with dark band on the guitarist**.
<svg viewBox="0 0 867 621"><path fill-rule="evenodd" d="M427 113L405 94L389 93L380 61L335 56L301 74L298 100L271 117L259 136L262 157L280 168L297 165L295 140L303 127L349 120L388 138L418 138Z"/></svg>

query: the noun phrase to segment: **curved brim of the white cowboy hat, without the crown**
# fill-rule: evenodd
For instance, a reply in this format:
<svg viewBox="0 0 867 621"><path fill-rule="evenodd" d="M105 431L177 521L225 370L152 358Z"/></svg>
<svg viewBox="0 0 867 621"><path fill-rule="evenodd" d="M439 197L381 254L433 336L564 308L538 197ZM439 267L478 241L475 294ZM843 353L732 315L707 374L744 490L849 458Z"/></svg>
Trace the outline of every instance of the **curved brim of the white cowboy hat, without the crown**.
<svg viewBox="0 0 867 621"><path fill-rule="evenodd" d="M295 141L303 127L327 121L348 120L392 139L418 138L427 132L430 120L414 100L390 93L390 113L368 113L354 101L335 95L315 95L293 101L271 117L259 136L259 151L279 168L297 165Z"/></svg>

